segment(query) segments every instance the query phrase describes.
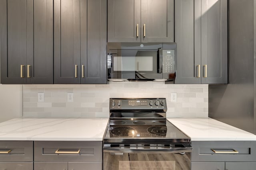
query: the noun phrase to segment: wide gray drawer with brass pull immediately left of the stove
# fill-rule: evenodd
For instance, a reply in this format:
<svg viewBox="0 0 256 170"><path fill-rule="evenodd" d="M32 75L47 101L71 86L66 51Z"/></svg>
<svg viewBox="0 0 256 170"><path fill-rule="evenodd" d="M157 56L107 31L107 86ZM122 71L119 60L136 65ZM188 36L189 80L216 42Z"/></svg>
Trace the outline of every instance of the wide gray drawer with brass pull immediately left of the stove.
<svg viewBox="0 0 256 170"><path fill-rule="evenodd" d="M34 141L35 162L102 162L101 141Z"/></svg>

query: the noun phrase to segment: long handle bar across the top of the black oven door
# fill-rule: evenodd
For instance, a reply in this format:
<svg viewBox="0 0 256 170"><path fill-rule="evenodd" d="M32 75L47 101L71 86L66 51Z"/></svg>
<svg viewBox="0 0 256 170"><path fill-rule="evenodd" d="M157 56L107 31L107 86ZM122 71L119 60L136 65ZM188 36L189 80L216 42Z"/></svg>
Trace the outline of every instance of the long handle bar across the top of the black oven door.
<svg viewBox="0 0 256 170"><path fill-rule="evenodd" d="M184 153L184 152L192 152L192 147L186 148L171 148L171 149L130 149L130 148L108 148L103 147L103 152L111 152L111 153Z"/></svg>

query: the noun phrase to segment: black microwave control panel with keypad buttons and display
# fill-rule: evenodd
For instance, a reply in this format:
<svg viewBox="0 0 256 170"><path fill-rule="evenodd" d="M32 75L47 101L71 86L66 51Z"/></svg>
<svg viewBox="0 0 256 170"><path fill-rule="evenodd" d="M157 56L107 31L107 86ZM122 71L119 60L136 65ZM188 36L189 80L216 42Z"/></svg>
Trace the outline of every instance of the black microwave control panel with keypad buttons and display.
<svg viewBox="0 0 256 170"><path fill-rule="evenodd" d="M162 66L162 72L163 73L174 73L174 57L175 57L175 50L163 50L163 66Z"/></svg>

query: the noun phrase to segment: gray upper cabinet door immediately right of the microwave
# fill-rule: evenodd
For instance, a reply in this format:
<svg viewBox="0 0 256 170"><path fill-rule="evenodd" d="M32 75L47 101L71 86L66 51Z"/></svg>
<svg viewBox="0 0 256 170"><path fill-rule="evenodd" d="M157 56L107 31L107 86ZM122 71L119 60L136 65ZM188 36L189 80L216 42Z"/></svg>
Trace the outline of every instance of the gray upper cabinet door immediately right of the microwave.
<svg viewBox="0 0 256 170"><path fill-rule="evenodd" d="M201 0L175 0L176 84L201 83Z"/></svg>

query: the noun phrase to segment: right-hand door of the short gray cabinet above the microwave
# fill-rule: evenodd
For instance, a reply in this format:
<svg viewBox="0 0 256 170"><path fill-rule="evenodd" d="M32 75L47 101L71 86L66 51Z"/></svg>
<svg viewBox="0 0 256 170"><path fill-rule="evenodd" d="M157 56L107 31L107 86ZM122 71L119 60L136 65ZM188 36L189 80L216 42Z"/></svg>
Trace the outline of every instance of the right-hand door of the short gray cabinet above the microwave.
<svg viewBox="0 0 256 170"><path fill-rule="evenodd" d="M174 0L141 0L141 41L174 42Z"/></svg>

